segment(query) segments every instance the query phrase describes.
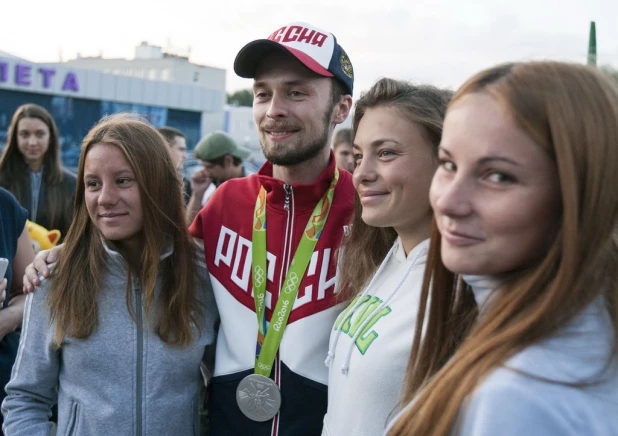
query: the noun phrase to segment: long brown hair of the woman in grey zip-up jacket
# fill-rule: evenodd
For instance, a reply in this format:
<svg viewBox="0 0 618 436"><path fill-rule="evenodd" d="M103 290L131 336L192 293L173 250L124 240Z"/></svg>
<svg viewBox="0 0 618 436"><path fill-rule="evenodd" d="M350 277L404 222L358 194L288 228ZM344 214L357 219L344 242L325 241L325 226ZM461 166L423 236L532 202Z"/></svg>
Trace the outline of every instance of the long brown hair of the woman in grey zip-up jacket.
<svg viewBox="0 0 618 436"><path fill-rule="evenodd" d="M103 236L90 220L84 198L86 156L98 143L112 144L123 152L140 190L145 243L140 271L127 268L129 312L135 319L131 280L137 276L142 283L145 312L147 316L157 316L156 320L150 320L159 337L170 344L187 345L193 340L191 323L200 326L202 309L197 296L201 283L196 245L184 218L181 181L163 136L130 115L104 118L84 138L79 158L75 218L48 294L51 320L56 328L54 342L60 346L66 336L87 338L98 325L97 294L105 285L102 277L106 271L106 252ZM160 260L169 244L172 254ZM161 291L155 296L158 276L162 278Z"/></svg>

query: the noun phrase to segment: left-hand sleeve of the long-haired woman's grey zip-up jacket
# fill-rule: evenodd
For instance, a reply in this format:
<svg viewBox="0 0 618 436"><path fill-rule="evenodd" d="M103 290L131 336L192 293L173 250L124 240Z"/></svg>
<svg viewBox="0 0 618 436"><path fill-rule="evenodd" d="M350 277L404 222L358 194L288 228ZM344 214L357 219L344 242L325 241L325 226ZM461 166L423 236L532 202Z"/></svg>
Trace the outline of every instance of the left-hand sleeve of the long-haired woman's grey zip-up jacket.
<svg viewBox="0 0 618 436"><path fill-rule="evenodd" d="M49 280L26 298L21 339L7 397L2 402L6 436L47 436L51 406L58 398L59 351L52 348L53 327L45 301Z"/></svg>

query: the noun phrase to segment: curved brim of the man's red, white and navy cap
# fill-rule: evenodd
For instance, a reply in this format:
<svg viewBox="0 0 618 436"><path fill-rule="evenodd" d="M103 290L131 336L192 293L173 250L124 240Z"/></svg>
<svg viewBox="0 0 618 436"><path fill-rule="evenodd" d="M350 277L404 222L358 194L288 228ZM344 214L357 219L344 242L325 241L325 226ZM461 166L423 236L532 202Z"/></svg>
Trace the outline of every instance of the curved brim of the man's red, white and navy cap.
<svg viewBox="0 0 618 436"><path fill-rule="evenodd" d="M269 39L258 39L245 45L234 60L234 72L240 77L253 79L256 69L262 59L273 51L279 50L296 58L301 64L316 74L325 77L333 77L334 74L317 63L313 58L300 50L286 47Z"/></svg>

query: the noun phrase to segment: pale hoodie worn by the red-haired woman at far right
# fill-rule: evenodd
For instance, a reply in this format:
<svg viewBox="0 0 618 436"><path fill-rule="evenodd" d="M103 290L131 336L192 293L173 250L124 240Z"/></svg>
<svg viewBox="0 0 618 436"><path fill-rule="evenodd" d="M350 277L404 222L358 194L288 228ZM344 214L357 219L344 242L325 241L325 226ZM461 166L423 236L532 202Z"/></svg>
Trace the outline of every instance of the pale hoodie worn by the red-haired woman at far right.
<svg viewBox="0 0 618 436"><path fill-rule="evenodd" d="M480 276L464 280L472 287L481 315L491 310L496 282ZM451 434L618 435L618 359L614 356L609 362L613 329L605 299L597 297L556 334L493 370L462 404ZM598 383L568 385L592 380Z"/></svg>

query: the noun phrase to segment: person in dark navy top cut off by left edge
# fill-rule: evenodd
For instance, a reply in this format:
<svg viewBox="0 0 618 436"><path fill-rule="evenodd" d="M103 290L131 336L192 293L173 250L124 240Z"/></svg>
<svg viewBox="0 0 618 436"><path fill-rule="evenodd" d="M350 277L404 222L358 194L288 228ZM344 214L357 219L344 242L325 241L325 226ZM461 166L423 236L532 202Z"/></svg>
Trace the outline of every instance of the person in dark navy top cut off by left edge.
<svg viewBox="0 0 618 436"><path fill-rule="evenodd" d="M26 296L22 293L22 278L26 266L34 259L32 241L26 229L28 211L15 197L0 188L0 258L9 260L0 290L6 292L0 309L0 401L6 396L4 387L11 377L11 368L17 357L19 332ZM1 279L1 277L0 277ZM3 421L0 416L0 425Z"/></svg>

